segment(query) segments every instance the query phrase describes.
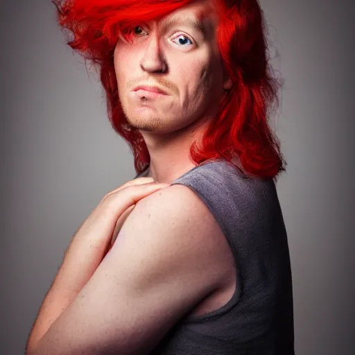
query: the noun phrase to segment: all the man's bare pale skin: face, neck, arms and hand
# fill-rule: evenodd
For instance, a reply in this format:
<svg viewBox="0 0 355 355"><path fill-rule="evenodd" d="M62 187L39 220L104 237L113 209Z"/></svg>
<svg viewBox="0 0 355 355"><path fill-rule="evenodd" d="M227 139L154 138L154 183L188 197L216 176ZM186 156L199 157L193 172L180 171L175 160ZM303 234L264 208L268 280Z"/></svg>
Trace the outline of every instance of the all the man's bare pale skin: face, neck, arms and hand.
<svg viewBox="0 0 355 355"><path fill-rule="evenodd" d="M168 18L196 19L201 10L211 12L208 1ZM207 21L216 28L216 19ZM85 220L37 315L27 355L147 355L227 277L229 249L209 209L188 187L161 183L194 166L189 147L230 80L213 31L204 37L186 26L162 31L160 25L150 24L148 35L132 44L119 41L114 52L123 110L144 136L149 175L159 184L148 178L128 182ZM171 42L179 35L196 42L185 49ZM144 101L146 110L138 110L141 101L130 91L154 82L169 95Z"/></svg>

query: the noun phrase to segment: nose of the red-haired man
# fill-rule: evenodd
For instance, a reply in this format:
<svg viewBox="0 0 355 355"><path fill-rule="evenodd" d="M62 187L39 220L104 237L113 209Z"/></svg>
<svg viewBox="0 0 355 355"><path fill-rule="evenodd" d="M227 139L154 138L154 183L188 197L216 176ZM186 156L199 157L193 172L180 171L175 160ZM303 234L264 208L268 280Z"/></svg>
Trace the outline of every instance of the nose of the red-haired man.
<svg viewBox="0 0 355 355"><path fill-rule="evenodd" d="M141 69L148 71L148 73L165 73L168 66L159 46L159 36L153 31L150 32L149 36L144 56L141 59Z"/></svg>

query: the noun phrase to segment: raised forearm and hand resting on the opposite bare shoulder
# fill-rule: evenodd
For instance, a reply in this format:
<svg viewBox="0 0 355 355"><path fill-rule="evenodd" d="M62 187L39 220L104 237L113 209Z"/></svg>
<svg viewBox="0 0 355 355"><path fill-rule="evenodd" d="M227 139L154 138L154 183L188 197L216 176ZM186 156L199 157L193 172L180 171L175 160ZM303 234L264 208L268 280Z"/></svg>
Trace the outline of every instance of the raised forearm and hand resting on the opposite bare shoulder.
<svg viewBox="0 0 355 355"><path fill-rule="evenodd" d="M166 186L166 185L165 185ZM114 233L128 216L135 203L149 193L162 189L153 179L139 178L107 193L92 214L80 226L64 255L62 266L40 307L26 352L31 352L51 327L51 324L75 300L78 293L94 275L110 247ZM115 227L116 225L116 227Z"/></svg>

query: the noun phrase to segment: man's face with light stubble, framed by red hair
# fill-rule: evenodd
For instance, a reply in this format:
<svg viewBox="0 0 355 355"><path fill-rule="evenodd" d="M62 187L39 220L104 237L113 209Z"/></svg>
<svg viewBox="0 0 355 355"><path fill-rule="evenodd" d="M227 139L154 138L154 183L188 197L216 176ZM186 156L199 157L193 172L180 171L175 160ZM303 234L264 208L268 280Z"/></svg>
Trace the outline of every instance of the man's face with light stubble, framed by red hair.
<svg viewBox="0 0 355 355"><path fill-rule="evenodd" d="M202 22L200 12L205 13ZM159 22L137 24L132 43L119 40L114 67L119 99L128 123L139 130L174 132L215 114L224 89L216 44L218 19L211 1L184 6ZM204 30L193 26L200 23ZM135 88L157 86L166 94Z"/></svg>

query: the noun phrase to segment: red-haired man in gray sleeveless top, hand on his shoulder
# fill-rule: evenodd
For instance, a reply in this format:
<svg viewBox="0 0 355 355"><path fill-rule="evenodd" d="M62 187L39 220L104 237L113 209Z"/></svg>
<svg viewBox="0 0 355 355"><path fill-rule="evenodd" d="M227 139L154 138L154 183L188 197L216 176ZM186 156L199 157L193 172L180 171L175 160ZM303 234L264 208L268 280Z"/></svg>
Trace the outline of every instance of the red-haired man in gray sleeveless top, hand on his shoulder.
<svg viewBox="0 0 355 355"><path fill-rule="evenodd" d="M73 48L88 53L85 36L95 34L90 53L101 63L110 119L138 152L140 174L105 196L74 236L27 354L294 354L286 230L270 178L280 160L261 95L272 85L259 5L131 0L132 9L140 6L133 16L124 2L57 3ZM124 11L109 58L110 15L95 32L93 14L103 19L112 8ZM150 18L150 10L162 13ZM222 60L229 34L221 21L240 27L235 73ZM261 60L259 71L252 60ZM232 105L231 97L236 116L221 104ZM220 135L223 127L229 136ZM219 155L207 157L209 149Z"/></svg>

